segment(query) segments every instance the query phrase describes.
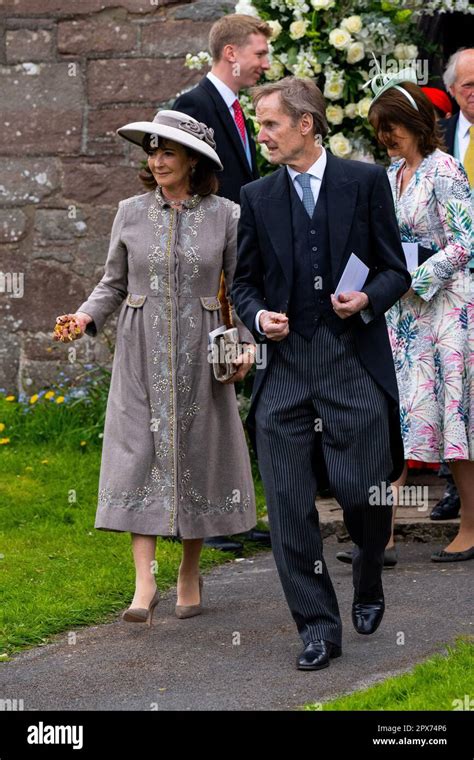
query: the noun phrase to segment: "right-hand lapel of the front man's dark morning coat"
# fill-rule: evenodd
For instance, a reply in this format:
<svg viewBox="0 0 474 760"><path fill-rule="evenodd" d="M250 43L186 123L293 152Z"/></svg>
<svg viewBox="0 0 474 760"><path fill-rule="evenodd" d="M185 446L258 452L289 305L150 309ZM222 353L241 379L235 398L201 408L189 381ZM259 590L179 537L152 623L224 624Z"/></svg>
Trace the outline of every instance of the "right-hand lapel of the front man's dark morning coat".
<svg viewBox="0 0 474 760"><path fill-rule="evenodd" d="M326 197L334 287L339 281L343 265L346 264L344 251L352 226L359 188L356 180L347 179L343 161L344 159L334 158L329 152L327 153ZM358 251L354 253L357 255Z"/></svg>

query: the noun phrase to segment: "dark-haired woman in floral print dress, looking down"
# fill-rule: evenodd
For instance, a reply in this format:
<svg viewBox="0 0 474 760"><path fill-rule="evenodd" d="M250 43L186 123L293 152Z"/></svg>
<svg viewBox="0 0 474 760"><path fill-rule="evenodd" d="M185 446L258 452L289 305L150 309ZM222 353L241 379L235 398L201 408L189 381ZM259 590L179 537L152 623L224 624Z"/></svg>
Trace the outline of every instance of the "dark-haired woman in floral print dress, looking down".
<svg viewBox="0 0 474 760"><path fill-rule="evenodd" d="M387 313L405 459L446 461L461 524L434 561L474 559L474 309L469 182L443 152L432 103L411 82L386 85L369 120L388 170L402 241L418 244L412 286ZM402 486L405 473L394 486ZM393 535L387 548L393 546Z"/></svg>

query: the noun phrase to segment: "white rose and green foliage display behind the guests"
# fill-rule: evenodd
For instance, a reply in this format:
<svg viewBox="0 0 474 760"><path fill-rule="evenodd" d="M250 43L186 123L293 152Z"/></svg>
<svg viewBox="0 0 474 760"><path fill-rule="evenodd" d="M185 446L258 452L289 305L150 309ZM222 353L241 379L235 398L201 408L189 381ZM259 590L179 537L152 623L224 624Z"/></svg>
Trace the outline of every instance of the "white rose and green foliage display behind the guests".
<svg viewBox="0 0 474 760"><path fill-rule="evenodd" d="M272 27L266 79L314 78L327 101L329 149L340 158L363 161L386 161L367 121L372 92L364 85L377 73L374 56L382 69L414 68L420 84L428 84L430 72L419 48L431 53L435 46L421 38L417 22L422 14L454 10L474 9L468 0L240 0L235 6L236 13L259 16ZM204 51L186 59L190 68L209 63ZM257 131L250 98L243 95L240 101ZM265 146L260 151L260 169L267 173Z"/></svg>

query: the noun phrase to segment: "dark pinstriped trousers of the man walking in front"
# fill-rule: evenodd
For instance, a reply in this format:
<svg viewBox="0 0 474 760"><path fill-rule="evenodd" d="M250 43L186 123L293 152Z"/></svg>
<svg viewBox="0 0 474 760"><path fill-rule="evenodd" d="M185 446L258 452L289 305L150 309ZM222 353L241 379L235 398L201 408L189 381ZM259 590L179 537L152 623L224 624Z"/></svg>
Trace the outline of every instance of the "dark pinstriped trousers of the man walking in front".
<svg viewBox="0 0 474 760"><path fill-rule="evenodd" d="M390 505L370 504L369 491L388 484L392 470L387 400L362 365L351 329L336 336L320 320L311 341L290 330L276 343L255 422L273 554L291 614L305 645L324 639L340 646L315 507L316 430L355 544L353 584L362 601L383 594L392 516Z"/></svg>

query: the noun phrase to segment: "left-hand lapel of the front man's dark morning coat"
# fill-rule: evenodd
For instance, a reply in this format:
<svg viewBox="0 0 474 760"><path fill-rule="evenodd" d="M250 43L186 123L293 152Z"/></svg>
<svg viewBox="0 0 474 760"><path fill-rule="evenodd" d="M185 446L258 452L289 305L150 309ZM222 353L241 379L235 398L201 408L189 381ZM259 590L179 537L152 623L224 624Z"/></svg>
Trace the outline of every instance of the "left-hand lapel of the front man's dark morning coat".
<svg viewBox="0 0 474 760"><path fill-rule="evenodd" d="M293 282L293 228L286 167L282 166L275 171L271 180L270 188L264 196L260 197L262 220L285 279L291 288Z"/></svg>

